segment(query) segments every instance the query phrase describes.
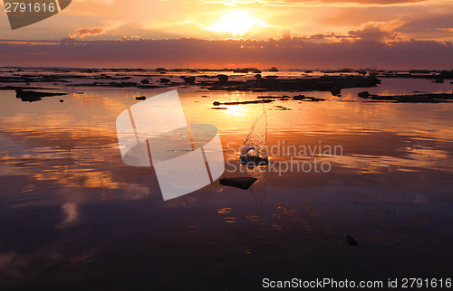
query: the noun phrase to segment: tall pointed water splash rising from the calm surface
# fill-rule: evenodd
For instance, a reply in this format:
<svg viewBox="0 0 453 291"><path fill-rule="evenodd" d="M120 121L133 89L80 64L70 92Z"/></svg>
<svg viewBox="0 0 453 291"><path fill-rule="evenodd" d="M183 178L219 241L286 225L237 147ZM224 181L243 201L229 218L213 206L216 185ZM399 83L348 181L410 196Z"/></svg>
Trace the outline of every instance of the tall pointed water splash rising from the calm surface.
<svg viewBox="0 0 453 291"><path fill-rule="evenodd" d="M260 166L269 164L267 159L267 116L263 113L256 118L240 150L239 164Z"/></svg>

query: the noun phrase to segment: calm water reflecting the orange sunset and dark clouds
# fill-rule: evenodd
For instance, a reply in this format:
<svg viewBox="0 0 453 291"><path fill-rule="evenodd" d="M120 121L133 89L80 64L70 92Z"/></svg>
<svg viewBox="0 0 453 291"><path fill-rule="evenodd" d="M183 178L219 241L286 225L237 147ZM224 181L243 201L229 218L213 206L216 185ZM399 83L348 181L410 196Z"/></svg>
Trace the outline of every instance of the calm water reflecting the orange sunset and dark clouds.
<svg viewBox="0 0 453 291"><path fill-rule="evenodd" d="M453 277L453 104L356 97L451 92L449 82L384 79L342 97L304 93L323 102L266 104L268 146L342 146L336 156L271 154L271 165L316 158L328 173L274 168L254 173L249 190L216 181L163 202L153 168L122 163L115 119L135 97L168 90L63 86L67 96L34 103L0 90L0 288L254 290L263 277ZM246 175L237 150L263 107L212 103L266 94L178 93L188 123L218 128L224 177Z"/></svg>

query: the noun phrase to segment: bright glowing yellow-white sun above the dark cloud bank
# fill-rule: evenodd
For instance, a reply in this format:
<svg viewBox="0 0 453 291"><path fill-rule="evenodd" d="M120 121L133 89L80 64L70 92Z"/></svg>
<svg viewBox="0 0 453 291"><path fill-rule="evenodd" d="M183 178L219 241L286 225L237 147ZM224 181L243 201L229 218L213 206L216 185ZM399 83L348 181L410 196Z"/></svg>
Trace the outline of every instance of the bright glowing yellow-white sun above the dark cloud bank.
<svg viewBox="0 0 453 291"><path fill-rule="evenodd" d="M231 33L241 36L255 27L265 27L266 23L246 11L233 11L220 15L218 19L207 26L207 30L216 33Z"/></svg>

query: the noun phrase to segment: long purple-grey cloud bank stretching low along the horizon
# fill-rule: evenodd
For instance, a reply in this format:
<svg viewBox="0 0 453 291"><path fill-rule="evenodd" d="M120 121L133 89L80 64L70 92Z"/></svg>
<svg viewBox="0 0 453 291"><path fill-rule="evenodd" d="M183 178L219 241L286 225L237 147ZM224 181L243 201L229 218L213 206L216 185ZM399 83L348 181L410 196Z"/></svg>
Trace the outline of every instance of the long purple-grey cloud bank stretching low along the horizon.
<svg viewBox="0 0 453 291"><path fill-rule="evenodd" d="M363 28L366 28L364 26ZM366 31L366 29L365 29ZM359 32L356 32L359 33ZM363 33L363 32L360 32ZM359 34L360 34L359 33ZM363 34L361 34L363 37ZM374 35L374 34L373 34ZM314 38L321 38L316 35ZM376 42L388 36L356 39L326 34L339 42L312 42L307 38L267 41L198 39L82 41L52 43L0 42L0 63L21 66L106 67L225 67L255 63L281 68L453 69L449 42ZM35 56L39 55L39 58Z"/></svg>

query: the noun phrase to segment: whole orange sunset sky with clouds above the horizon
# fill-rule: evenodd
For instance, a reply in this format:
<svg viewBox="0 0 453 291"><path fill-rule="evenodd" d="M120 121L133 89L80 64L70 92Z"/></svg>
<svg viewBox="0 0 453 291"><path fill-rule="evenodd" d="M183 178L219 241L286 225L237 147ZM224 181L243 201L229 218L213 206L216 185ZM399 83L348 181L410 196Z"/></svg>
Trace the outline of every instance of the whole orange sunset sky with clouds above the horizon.
<svg viewBox="0 0 453 291"><path fill-rule="evenodd" d="M15 30L1 10L0 65L453 69L451 0L72 0Z"/></svg>

